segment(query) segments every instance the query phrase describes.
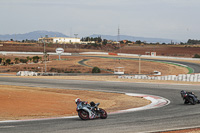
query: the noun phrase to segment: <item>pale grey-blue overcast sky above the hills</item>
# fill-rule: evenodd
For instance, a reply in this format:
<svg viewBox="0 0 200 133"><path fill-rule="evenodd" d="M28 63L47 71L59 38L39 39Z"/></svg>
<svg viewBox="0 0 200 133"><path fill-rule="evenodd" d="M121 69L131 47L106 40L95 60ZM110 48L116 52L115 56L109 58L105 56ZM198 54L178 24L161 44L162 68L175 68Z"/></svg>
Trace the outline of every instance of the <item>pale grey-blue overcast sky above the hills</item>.
<svg viewBox="0 0 200 133"><path fill-rule="evenodd" d="M200 39L200 0L0 0L0 34Z"/></svg>

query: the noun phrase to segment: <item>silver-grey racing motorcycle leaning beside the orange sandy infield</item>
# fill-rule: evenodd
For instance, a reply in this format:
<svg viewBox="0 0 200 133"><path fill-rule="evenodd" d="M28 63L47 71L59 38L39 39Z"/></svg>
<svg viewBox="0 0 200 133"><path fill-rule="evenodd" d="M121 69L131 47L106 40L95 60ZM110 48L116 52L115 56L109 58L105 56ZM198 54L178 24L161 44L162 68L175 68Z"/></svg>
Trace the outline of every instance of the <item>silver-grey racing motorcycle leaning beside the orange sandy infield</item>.
<svg viewBox="0 0 200 133"><path fill-rule="evenodd" d="M99 108L98 107L99 105L100 103L89 105L86 102L81 101L77 104L76 111L78 112L78 116L82 120L89 120L96 118L106 119L107 112L104 109Z"/></svg>

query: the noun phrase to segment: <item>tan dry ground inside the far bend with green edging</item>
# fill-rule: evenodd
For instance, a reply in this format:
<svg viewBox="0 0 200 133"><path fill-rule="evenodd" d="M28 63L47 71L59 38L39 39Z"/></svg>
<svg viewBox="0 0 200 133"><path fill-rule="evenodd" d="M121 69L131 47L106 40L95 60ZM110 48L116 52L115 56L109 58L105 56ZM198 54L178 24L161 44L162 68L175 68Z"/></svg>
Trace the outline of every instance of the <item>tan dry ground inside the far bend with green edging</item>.
<svg viewBox="0 0 200 133"><path fill-rule="evenodd" d="M99 58L98 61L96 59L89 60L87 65L98 66L99 68L103 69L112 68L112 70L115 67L124 67L125 73L127 74L138 74L139 72L139 61L137 60L114 60ZM162 75L178 75L180 73L188 73L188 70L184 67L159 62L141 61L141 74L152 74L155 70L162 72Z"/></svg>

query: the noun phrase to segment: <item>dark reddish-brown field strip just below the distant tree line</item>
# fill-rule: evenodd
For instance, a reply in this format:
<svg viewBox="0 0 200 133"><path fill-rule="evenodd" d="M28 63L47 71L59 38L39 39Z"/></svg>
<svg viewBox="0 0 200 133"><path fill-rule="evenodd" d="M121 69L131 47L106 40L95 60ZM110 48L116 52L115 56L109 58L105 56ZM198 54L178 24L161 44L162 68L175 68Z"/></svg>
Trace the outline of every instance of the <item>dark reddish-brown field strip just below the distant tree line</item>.
<svg viewBox="0 0 200 133"><path fill-rule="evenodd" d="M38 43L3 43L0 51L26 51L26 52L43 52L44 45ZM118 46L111 44L93 47L91 45L63 45L63 44L46 44L47 52L55 52L56 48L62 47L65 52L113 52L113 53L130 53L142 54L146 52L156 52L159 56L175 56L175 57L193 57L195 54L200 54L200 45L122 45L121 49Z"/></svg>

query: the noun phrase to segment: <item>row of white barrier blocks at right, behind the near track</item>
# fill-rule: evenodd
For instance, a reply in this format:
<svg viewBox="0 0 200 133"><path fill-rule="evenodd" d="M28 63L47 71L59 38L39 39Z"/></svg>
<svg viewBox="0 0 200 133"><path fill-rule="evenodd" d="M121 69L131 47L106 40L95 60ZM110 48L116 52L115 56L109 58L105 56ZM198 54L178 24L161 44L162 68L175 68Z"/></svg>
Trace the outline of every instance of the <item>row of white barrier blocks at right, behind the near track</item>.
<svg viewBox="0 0 200 133"><path fill-rule="evenodd" d="M118 76L121 79L143 79L143 80L170 80L170 81L187 81L200 82L200 73L196 74L179 74L167 76L148 76L148 75L134 75L134 76Z"/></svg>

